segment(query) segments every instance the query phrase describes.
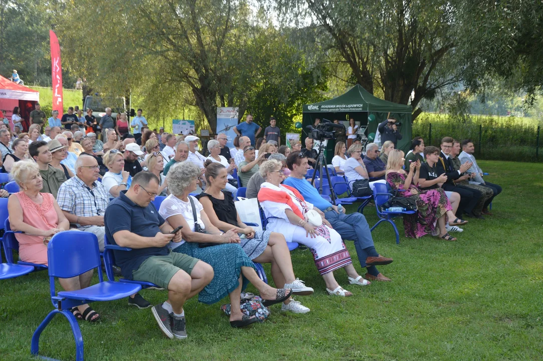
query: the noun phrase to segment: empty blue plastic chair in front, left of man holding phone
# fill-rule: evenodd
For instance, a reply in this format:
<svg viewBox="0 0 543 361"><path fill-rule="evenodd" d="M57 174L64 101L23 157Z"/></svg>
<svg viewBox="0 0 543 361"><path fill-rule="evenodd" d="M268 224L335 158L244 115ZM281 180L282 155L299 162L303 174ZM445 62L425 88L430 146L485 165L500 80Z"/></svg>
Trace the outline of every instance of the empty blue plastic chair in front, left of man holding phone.
<svg viewBox="0 0 543 361"><path fill-rule="evenodd" d="M49 312L40 326L34 331L30 352L33 355L38 355L41 333L54 316L60 313L68 319L72 328L72 334L75 339L75 360L83 361L83 336L81 335L77 319L68 310L72 307L94 301L123 299L141 290L141 286L139 284L104 281L100 264L98 239L90 232L67 231L57 233L47 245L47 259L49 263L51 302L55 309ZM56 293L55 277L75 277L94 268L98 269L99 282L97 284L80 290Z"/></svg>

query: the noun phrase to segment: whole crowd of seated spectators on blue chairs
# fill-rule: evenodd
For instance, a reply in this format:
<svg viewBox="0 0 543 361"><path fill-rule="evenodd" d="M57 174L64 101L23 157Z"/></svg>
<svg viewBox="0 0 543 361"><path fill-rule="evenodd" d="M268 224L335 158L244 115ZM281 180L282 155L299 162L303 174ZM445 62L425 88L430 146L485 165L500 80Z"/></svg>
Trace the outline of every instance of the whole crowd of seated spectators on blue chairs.
<svg viewBox="0 0 543 361"><path fill-rule="evenodd" d="M195 295L208 305L229 296L232 327L260 321L240 309L248 283L266 306L281 303L285 312L310 312L293 298L311 295L313 288L296 278L287 242L311 249L330 295L352 295L342 286L343 276L334 275L340 268L355 286L391 281L377 267L393 259L377 252L363 214L346 214L305 179L314 160L312 140L306 140L303 150L295 141L292 149L278 148L274 141L261 142L255 149L241 136L235 148L227 149L222 137L207 143L206 159L193 135L178 142L173 135L162 136L165 155L160 138L148 129L143 130L140 147L129 134L119 140L113 129L105 130L107 141L102 143L93 132L84 136L79 126L63 133L57 128L51 126L48 135L38 131L37 137L33 130L11 137L9 130L0 128L2 167L20 186L8 210L12 229L24 232L16 234L21 260L47 265L48 240L70 228L96 235L100 251L105 235L112 244L132 248L114 251L119 272L168 290L168 299L151 312L169 338L187 337L184 305ZM368 179L405 191L402 195L417 205L415 214L403 216L406 237L456 240L449 232L462 231L458 226L468 223L462 216L484 219L483 214L490 215L490 202L502 191L483 180L473 149L470 140L444 138L440 150L415 138L405 158L392 142L385 142L381 151L370 143L364 156L360 142L353 141L348 150L337 142L332 164L351 185ZM234 169L242 181L237 187L246 186L246 196L260 202L268 218L266 230L255 231L239 217ZM464 197L468 192L470 197ZM0 191L1 197L7 195ZM159 195L166 199L156 209L152 201ZM354 242L364 276L352 265L347 240ZM258 277L255 263L271 265L276 288ZM92 274L91 270L60 284L66 290L85 288ZM152 306L140 294L131 295L128 303ZM71 312L91 322L100 318L88 305Z"/></svg>

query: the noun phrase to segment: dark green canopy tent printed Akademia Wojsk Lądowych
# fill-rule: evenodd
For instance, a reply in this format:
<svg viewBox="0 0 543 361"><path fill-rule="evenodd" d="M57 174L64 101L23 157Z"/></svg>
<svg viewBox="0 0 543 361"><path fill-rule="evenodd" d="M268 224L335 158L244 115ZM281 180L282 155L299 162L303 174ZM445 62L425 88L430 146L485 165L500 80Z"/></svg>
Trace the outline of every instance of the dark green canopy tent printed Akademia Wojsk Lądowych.
<svg viewBox="0 0 543 361"><path fill-rule="evenodd" d="M411 105L396 104L379 99L358 84L339 97L325 100L324 102L304 105L302 125L303 129L306 129L306 125L314 124L315 118L325 118L330 121L338 119L342 124L348 126L349 118L352 117L359 126L368 126L368 134L377 133L377 126L387 119L389 112L389 117L394 117L402 123L399 128L403 137L398 141L397 148L407 153L411 147ZM375 121L368 124L368 116L371 114L375 116ZM302 140L305 138L306 135L302 132ZM333 157L333 147L334 142L329 142L326 147L329 149L326 152L327 160Z"/></svg>

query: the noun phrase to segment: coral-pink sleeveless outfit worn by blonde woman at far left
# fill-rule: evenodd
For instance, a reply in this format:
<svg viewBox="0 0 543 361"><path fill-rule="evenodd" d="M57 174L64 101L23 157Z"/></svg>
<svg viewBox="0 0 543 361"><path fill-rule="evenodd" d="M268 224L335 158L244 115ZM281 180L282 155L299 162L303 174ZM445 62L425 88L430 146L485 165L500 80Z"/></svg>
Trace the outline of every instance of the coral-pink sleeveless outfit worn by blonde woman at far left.
<svg viewBox="0 0 543 361"><path fill-rule="evenodd" d="M40 193L42 204L36 204L23 192L15 193L21 208L23 208L23 222L41 230L49 230L59 225L56 214L53 194ZM42 236L29 236L24 233L15 233L19 242L19 257L21 261L47 265L47 246L43 244Z"/></svg>

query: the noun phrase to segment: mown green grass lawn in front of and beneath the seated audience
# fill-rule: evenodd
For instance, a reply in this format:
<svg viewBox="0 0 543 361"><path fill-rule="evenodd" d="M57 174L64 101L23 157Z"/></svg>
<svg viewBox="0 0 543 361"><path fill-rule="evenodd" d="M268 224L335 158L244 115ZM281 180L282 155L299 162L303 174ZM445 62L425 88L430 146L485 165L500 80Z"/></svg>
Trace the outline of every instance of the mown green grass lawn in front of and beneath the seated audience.
<svg viewBox="0 0 543 361"><path fill-rule="evenodd" d="M80 322L87 360L541 360L543 359L543 164L480 161L488 180L504 191L494 216L472 220L458 242L430 236L403 237L395 244L389 224L373 232L377 251L394 258L379 267L393 279L368 287L342 286L347 299L329 296L309 250L292 252L294 271L312 296L296 297L311 308L305 315L271 307L264 324L235 330L220 311L223 300L185 306L188 339L167 339L150 309L126 300L94 303L99 324ZM348 206L353 211L353 206ZM356 210L356 208L355 208ZM367 207L370 225L375 207ZM346 242L359 272L352 242ZM269 267L267 274L269 275ZM30 359L30 339L52 309L45 272L1 281L0 359ZM255 292L250 286L249 290ZM166 292L144 290L152 303ZM74 359L70 327L57 317L41 338L41 353Z"/></svg>

